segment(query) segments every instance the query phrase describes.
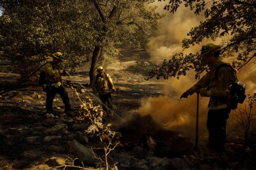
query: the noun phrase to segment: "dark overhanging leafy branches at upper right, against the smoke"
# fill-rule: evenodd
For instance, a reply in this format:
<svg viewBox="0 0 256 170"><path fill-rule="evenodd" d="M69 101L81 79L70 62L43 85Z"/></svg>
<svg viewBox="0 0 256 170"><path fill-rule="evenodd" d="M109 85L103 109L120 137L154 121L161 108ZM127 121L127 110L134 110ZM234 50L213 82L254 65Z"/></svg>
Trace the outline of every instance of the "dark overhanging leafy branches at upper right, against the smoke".
<svg viewBox="0 0 256 170"><path fill-rule="evenodd" d="M160 0L161 1L161 0ZM163 0L165 1L165 0ZM204 12L205 20L197 27L191 28L188 38L182 40L182 47L189 48L199 44L206 38L213 41L222 38L221 54L223 57L237 56L233 66L240 69L256 56L256 1L255 0L170 0L165 9L175 13L178 7L184 4L196 15ZM210 4L210 7L208 5ZM172 70L170 70L172 69ZM195 69L196 76L207 70L202 63L199 52L197 54L175 54L163 65L155 66L148 78L156 76L159 79L186 75L186 72Z"/></svg>

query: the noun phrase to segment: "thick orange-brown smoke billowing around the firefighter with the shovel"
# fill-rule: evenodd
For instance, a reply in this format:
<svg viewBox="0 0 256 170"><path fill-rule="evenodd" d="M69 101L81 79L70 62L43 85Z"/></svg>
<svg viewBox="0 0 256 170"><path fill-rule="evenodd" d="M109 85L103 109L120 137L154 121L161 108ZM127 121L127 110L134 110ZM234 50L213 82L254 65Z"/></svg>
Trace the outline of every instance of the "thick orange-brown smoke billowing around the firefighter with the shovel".
<svg viewBox="0 0 256 170"><path fill-rule="evenodd" d="M158 5L161 9L162 4L158 3ZM212 40L204 40L200 45L195 45L182 51L182 39L185 38L187 32L192 27L198 25L203 18L203 16L195 16L189 8L184 7L179 8L175 14L167 12L166 17L161 20L158 25L158 34L150 38L147 44L147 51L151 56L151 62L159 65L163 59L169 59L177 52L183 52L184 54L196 52L199 51L201 45L213 42ZM213 43L220 44L221 39L219 38ZM231 58L233 59L234 57L225 58L224 61L231 63ZM249 63L245 70L241 69L237 74L239 81L246 84L247 94L256 92L255 72L256 67L254 63ZM197 81L194 75L195 73L190 71L187 76L183 76L179 80L176 78L159 80L166 82L166 87L163 89L165 95L142 99L141 107L138 109L138 112L142 115L150 114L157 123L160 123L165 128L179 130L193 136L195 134L196 94L189 96L188 99L179 99L179 97ZM207 132L206 119L208 101L209 98L200 97L199 126L201 135ZM234 130L235 123L236 121L232 118L228 119L227 130Z"/></svg>

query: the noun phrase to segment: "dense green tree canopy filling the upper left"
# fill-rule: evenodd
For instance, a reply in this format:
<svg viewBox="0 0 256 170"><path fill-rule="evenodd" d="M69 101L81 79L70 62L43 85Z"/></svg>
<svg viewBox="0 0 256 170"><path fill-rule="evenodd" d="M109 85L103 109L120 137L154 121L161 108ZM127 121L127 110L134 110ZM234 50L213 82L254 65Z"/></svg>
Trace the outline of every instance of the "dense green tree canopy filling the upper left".
<svg viewBox="0 0 256 170"><path fill-rule="evenodd" d="M67 66L75 68L92 55L95 46L102 46L102 39L108 51L124 41L139 46L139 34L156 29L162 17L156 7L147 5L150 2L0 0L0 50L15 61L14 71L20 74L30 73L56 51L64 54Z"/></svg>

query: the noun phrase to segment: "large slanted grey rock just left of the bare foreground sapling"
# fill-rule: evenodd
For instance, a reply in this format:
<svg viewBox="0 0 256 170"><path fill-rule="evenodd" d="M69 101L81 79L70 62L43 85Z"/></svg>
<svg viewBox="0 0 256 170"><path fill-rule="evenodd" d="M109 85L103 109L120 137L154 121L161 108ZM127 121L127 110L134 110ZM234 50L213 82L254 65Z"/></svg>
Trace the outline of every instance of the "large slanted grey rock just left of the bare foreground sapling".
<svg viewBox="0 0 256 170"><path fill-rule="evenodd" d="M92 150L90 150L86 146L83 146L75 139L70 146L69 153L73 154L80 161L87 165L94 165L96 162L98 162L98 159L94 157Z"/></svg>

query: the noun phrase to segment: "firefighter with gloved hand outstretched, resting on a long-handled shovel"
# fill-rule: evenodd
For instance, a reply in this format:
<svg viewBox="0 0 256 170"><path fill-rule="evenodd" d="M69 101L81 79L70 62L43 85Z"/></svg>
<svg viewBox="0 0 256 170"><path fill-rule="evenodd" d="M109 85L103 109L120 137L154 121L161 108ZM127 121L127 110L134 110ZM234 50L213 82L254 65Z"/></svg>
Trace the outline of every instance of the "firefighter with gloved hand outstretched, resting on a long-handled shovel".
<svg viewBox="0 0 256 170"><path fill-rule="evenodd" d="M196 92L200 93L200 96L210 97L206 125L209 131L209 145L218 153L223 152L226 122L231 111L226 91L236 80L236 73L232 68L220 67L225 63L219 59L220 51L221 47L213 43L202 46L201 56L210 66L210 71L180 96L187 98Z"/></svg>

